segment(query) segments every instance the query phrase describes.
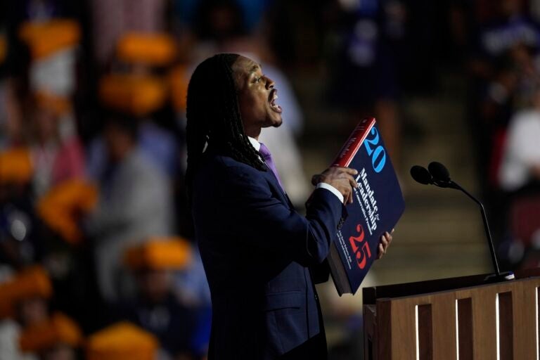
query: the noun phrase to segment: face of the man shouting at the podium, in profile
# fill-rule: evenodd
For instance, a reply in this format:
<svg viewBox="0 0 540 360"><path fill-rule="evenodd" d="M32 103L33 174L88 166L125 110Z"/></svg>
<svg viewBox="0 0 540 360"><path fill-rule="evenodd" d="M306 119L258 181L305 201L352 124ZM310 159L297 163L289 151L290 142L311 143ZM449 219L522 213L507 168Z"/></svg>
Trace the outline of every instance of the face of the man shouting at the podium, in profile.
<svg viewBox="0 0 540 360"><path fill-rule="evenodd" d="M238 88L240 115L245 134L257 138L263 127L281 125L281 106L277 105L274 82L264 76L259 64L240 56L233 64Z"/></svg>

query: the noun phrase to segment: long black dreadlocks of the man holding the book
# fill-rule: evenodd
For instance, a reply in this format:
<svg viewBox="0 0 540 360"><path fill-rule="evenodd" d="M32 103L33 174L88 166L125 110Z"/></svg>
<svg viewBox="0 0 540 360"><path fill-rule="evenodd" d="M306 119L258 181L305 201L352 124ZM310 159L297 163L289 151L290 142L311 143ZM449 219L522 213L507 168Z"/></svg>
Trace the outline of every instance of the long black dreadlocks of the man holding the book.
<svg viewBox="0 0 540 360"><path fill-rule="evenodd" d="M189 197L206 144L221 155L266 171L259 153L245 135L240 116L232 69L238 56L232 53L214 55L200 63L191 75L186 108Z"/></svg>

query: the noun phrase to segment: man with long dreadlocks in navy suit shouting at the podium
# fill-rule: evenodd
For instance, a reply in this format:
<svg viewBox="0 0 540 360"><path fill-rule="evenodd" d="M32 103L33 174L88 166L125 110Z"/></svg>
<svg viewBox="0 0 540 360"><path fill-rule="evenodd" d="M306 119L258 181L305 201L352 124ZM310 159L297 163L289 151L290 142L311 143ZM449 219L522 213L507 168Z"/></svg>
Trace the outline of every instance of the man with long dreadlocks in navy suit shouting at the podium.
<svg viewBox="0 0 540 360"><path fill-rule="evenodd" d="M314 277L356 170L314 176L307 215L298 214L257 141L263 127L281 125L277 98L261 67L236 54L208 58L189 82L186 177L212 293L210 360L326 359ZM381 238L379 257L391 240Z"/></svg>

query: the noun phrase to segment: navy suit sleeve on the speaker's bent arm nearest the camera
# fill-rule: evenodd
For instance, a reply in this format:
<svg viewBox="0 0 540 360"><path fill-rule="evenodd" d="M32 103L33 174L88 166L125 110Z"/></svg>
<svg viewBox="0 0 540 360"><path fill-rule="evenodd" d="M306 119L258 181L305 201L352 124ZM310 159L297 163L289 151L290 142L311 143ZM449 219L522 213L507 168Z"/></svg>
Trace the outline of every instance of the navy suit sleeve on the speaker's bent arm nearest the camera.
<svg viewBox="0 0 540 360"><path fill-rule="evenodd" d="M342 203L326 189L311 194L305 217L271 193L255 169L228 168L223 197L240 239L248 246L288 252L303 266L320 264L328 256L330 240L342 217Z"/></svg>

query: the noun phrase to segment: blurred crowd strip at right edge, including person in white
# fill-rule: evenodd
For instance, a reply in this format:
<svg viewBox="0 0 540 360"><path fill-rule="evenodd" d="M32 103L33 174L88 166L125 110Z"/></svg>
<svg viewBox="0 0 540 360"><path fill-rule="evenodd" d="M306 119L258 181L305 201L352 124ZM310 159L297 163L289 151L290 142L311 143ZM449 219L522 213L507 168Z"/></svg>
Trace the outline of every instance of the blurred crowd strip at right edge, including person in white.
<svg viewBox="0 0 540 360"><path fill-rule="evenodd" d="M539 266L540 1L465 6L468 122L499 255L508 269Z"/></svg>

